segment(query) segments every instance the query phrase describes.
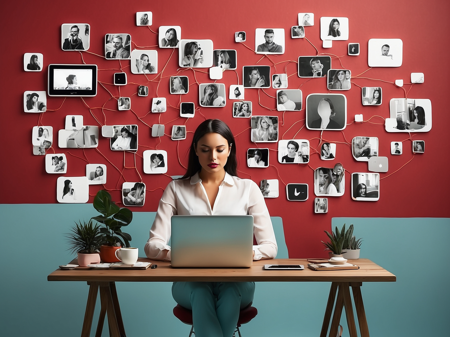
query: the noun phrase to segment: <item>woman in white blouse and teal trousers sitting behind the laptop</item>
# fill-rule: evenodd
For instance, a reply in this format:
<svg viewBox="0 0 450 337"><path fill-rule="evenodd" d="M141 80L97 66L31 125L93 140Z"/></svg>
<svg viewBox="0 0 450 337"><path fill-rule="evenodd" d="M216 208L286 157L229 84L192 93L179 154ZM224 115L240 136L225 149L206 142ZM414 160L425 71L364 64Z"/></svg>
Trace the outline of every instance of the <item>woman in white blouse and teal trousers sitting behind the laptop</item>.
<svg viewBox="0 0 450 337"><path fill-rule="evenodd" d="M172 215L253 215L253 260L274 258L274 231L264 197L255 182L236 177L236 144L221 120L205 120L193 135L189 164L169 183L144 250L148 258L170 260ZM175 301L193 311L196 337L231 337L239 310L253 300L254 282L175 282Z"/></svg>

